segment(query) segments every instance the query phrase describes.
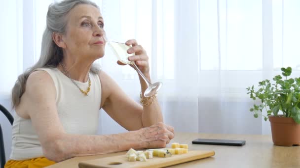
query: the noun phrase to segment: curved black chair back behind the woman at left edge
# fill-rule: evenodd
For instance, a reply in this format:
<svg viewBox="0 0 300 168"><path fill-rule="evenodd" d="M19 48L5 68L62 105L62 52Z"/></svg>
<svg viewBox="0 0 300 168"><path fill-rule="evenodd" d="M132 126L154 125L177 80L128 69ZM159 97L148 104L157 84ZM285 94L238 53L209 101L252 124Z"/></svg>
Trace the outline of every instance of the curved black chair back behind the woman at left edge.
<svg viewBox="0 0 300 168"><path fill-rule="evenodd" d="M7 109L5 109L2 105L0 105L0 111L6 116L6 118L9 120L10 124L13 123L13 116L8 112ZM5 159L5 150L4 150L4 140L3 140L3 133L2 128L0 124L0 168L4 168L4 165L6 163Z"/></svg>

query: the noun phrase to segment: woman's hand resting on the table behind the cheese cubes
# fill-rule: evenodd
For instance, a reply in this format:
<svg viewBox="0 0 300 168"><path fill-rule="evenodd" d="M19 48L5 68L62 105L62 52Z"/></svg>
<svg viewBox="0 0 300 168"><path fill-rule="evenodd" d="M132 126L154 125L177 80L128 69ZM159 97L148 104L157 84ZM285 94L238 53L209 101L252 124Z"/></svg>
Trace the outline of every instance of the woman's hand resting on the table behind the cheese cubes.
<svg viewBox="0 0 300 168"><path fill-rule="evenodd" d="M174 128L162 122L138 130L145 148L161 148L174 138Z"/></svg>

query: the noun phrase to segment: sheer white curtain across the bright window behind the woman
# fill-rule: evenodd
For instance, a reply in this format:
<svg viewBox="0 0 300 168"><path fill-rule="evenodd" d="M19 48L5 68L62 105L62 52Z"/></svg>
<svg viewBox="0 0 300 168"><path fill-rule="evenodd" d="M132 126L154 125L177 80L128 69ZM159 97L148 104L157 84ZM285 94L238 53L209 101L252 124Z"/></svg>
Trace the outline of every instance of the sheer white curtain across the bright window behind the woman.
<svg viewBox="0 0 300 168"><path fill-rule="evenodd" d="M5 16L0 103L6 107L17 75L38 60L47 7L54 1L7 0L0 7ZM269 122L249 112L254 102L246 87L271 79L282 66L291 66L299 76L300 1L93 1L100 6L110 40L137 39L146 49L151 81L163 82L158 100L165 122L176 131L270 134ZM96 63L139 101L134 69L117 65L109 48ZM99 134L126 131L101 114Z"/></svg>

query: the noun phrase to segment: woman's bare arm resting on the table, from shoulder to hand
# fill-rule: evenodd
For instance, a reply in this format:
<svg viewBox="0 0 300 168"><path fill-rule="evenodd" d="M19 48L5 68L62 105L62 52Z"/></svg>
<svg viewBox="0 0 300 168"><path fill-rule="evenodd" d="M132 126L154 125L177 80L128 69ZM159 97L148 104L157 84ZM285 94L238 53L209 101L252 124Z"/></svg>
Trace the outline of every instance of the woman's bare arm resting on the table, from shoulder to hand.
<svg viewBox="0 0 300 168"><path fill-rule="evenodd" d="M31 118L44 156L49 160L60 162L75 156L112 153L130 148L164 147L174 137L173 128L163 123L123 134L67 134L57 114L55 97L56 90L51 77L44 71L36 71L29 76L18 107Z"/></svg>

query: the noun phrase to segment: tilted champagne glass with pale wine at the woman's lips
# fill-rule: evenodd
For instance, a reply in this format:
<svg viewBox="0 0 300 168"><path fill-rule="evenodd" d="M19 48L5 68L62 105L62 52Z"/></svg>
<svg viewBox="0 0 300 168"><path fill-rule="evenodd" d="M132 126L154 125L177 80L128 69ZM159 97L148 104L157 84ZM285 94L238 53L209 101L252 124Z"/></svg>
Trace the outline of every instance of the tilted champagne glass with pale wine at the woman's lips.
<svg viewBox="0 0 300 168"><path fill-rule="evenodd" d="M143 80L146 82L147 84L147 89L144 92L144 97L150 97L152 95L154 95L155 93L157 93L157 91L160 89L160 87L162 86L161 82L156 82L154 84L151 84L147 78L144 76L144 74L142 73L142 71L138 68L138 66L135 64L134 61L129 61L128 60L128 56L134 56L135 54L128 54L127 50L131 47L131 46L127 46L125 43L120 43L120 42L114 42L114 41L108 41L108 45L111 47L114 55L117 57L117 59L124 63L124 64L129 64L132 65L133 68L138 72L138 74L140 74L140 76L143 78Z"/></svg>

